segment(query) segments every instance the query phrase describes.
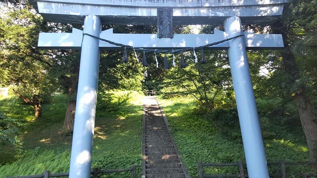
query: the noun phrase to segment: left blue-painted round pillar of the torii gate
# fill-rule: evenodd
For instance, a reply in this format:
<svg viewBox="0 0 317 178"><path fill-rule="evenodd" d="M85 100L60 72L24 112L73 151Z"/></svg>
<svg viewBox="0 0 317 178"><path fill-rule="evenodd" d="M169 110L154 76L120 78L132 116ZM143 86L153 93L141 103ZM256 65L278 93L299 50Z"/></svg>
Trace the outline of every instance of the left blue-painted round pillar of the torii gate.
<svg viewBox="0 0 317 178"><path fill-rule="evenodd" d="M100 32L100 18L93 15L86 16L84 22L84 33L99 37ZM90 177L99 59L99 40L89 36L84 36L80 58L69 178Z"/></svg>

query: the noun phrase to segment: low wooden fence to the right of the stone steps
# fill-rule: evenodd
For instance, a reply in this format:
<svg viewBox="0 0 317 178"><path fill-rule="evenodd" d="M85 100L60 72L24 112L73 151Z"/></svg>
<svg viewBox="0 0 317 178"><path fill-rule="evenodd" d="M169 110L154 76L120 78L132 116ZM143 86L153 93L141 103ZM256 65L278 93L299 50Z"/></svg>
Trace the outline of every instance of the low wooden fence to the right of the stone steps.
<svg viewBox="0 0 317 178"><path fill-rule="evenodd" d="M286 171L286 166L289 165L309 165L312 168L317 166L317 162L285 162L285 160L280 160L279 162L268 162L267 166L280 166L280 173L271 173L269 174L270 178L288 178L288 176L295 176L301 178L312 178L316 177L316 173L288 173ZM239 172L237 174L204 174L203 167L227 167L233 166L238 167ZM248 175L244 173L246 164L242 161L238 161L236 163L202 163L198 162L198 175L199 178L248 178ZM293 178L293 177L292 177Z"/></svg>

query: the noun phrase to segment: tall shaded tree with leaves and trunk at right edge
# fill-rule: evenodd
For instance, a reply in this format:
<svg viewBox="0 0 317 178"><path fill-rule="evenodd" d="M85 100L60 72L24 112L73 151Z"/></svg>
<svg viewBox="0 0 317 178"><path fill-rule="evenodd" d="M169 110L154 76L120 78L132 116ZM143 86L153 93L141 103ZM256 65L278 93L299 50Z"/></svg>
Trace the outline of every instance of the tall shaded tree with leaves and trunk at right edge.
<svg viewBox="0 0 317 178"><path fill-rule="evenodd" d="M290 88L288 95L293 96L297 105L311 161L317 160L317 122L311 102L313 95L310 95L310 86L316 81L309 82L316 79L316 42L312 41L317 30L316 4L316 0L292 0L280 21L271 26L272 31L282 34L284 39L285 47L280 53ZM304 64L303 68L299 64Z"/></svg>

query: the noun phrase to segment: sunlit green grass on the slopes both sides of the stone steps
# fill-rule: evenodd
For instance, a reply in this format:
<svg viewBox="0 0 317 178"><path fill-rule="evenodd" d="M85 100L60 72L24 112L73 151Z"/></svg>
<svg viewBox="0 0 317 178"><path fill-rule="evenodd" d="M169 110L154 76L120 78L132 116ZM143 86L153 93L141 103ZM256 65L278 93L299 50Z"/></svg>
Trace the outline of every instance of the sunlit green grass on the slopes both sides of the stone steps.
<svg viewBox="0 0 317 178"><path fill-rule="evenodd" d="M118 169L130 168L135 164L137 177L141 177L143 97L143 94L135 91L115 91L107 93L107 96L101 93L101 104L98 104L96 113L92 167ZM200 160L204 163L245 160L242 140L219 134L208 116L194 113L196 105L193 98L159 97L159 103L192 178L198 178L197 162ZM0 162L7 163L0 166L0 178L42 174L45 170L51 173L68 172L72 137L62 133L65 110L66 97L56 95L50 103L43 105L43 116L35 120L32 107L15 97L0 98L0 112L25 123L20 157L14 158L16 154L10 147L1 146ZM307 145L297 138L293 133L288 133L285 137L265 139L267 160L307 161ZM292 168L294 172L301 169ZM279 171L279 168L270 168L270 172L276 170ZM204 171L235 173L231 168ZM131 174L125 172L103 177L130 178Z"/></svg>

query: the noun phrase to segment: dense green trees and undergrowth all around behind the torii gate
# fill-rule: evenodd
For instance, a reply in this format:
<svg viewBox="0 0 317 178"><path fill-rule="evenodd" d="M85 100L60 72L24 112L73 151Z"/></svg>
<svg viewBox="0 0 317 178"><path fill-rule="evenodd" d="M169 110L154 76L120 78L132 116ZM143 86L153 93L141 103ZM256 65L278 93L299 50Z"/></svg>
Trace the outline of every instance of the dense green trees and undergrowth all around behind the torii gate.
<svg viewBox="0 0 317 178"><path fill-rule="evenodd" d="M0 163L13 162L1 167L0 173L37 174L44 169L66 172L80 50L42 50L37 47L37 40L40 32L71 32L72 28L82 30L82 26L45 22L28 0L0 0L0 10L0 87L9 87L11 92L10 97L0 100ZM281 50L248 51L268 160L308 160L308 151L310 160L317 158L316 14L317 0L291 0L277 22L244 25L244 30L282 34L284 39L285 48ZM154 26L144 25L102 28L113 28L115 33L157 31ZM201 33L210 34L214 28L223 27L203 25ZM175 26L174 31L192 33L186 26ZM123 50L101 52L94 150L97 156L93 165L118 168L140 164L141 104L134 105L129 100L139 95L132 91L118 95L113 89L154 89L161 94L193 177L197 174L197 160L244 159L225 50L195 51L197 63L193 52L175 54L177 65L169 70L164 69L162 54L157 54L158 67L154 53L147 54L149 66L143 67L133 50L127 52L127 63L122 63ZM137 55L141 60L142 54ZM167 57L171 66L173 56ZM178 65L181 57L186 68ZM172 103L170 98L174 97L186 99ZM38 132L45 137L39 138ZM40 161L46 155L56 162L49 165ZM30 168L28 163L20 170L8 171L10 166L27 162L36 166ZM23 170L30 171L22 174Z"/></svg>

